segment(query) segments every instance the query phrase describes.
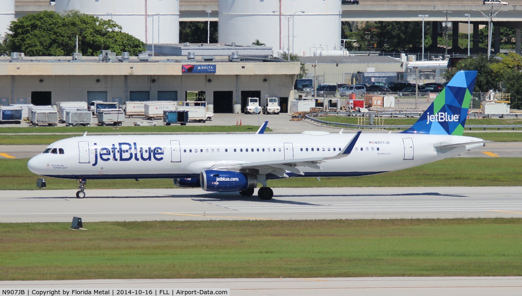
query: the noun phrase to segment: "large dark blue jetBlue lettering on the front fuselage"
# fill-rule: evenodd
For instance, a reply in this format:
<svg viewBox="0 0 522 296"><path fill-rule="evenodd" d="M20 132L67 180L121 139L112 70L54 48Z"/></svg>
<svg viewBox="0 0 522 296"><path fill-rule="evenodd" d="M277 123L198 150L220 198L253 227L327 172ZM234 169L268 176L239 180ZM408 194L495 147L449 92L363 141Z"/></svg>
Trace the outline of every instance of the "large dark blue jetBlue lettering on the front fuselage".
<svg viewBox="0 0 522 296"><path fill-rule="evenodd" d="M160 161L163 160L164 150L161 147L140 147L136 142L131 143L118 143L112 144L111 147L97 147L94 143L94 163L93 167L98 164L98 158L100 161Z"/></svg>

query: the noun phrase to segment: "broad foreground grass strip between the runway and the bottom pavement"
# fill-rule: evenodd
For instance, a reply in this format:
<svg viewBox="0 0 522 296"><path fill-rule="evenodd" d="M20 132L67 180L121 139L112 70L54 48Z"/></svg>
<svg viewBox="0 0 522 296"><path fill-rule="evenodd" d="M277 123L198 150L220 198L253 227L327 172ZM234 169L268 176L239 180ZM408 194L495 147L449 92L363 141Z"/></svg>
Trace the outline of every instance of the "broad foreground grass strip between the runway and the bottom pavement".
<svg viewBox="0 0 522 296"><path fill-rule="evenodd" d="M0 223L0 280L522 276L522 219Z"/></svg>

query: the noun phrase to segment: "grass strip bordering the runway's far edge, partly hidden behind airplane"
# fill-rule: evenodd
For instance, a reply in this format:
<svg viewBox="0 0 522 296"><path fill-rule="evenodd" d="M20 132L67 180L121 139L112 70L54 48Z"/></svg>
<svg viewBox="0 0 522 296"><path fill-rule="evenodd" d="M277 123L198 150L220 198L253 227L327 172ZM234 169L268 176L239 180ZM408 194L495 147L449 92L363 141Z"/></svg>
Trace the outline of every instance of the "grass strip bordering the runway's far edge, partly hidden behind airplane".
<svg viewBox="0 0 522 296"><path fill-rule="evenodd" d="M0 159L0 190L37 190L37 175L27 169L28 159ZM74 189L76 180L46 178L48 189ZM268 181L270 187L367 186L520 186L522 162L518 158L450 158L406 170L363 177L295 177ZM171 179L89 180L89 189L175 188Z"/></svg>

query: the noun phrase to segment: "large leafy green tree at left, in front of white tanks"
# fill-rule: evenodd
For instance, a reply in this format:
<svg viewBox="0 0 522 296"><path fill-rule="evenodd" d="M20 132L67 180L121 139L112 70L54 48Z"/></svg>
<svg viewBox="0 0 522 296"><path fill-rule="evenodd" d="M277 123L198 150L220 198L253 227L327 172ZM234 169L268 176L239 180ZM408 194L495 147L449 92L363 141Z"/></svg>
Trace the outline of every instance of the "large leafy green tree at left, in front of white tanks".
<svg viewBox="0 0 522 296"><path fill-rule="evenodd" d="M112 20L82 14L76 10L57 14L53 11L28 14L11 22L3 44L11 52L23 52L28 56L64 56L76 51L82 55L98 55L101 50L111 50L117 55L128 51L138 55L145 51L145 43L122 32L122 27Z"/></svg>

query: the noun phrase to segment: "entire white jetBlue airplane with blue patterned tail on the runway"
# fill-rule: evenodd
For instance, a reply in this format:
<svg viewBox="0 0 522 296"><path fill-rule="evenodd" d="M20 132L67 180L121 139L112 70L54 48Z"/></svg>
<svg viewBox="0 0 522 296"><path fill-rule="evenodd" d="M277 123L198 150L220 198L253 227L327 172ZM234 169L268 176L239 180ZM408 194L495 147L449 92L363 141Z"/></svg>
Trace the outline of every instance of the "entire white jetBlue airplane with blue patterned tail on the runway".
<svg viewBox="0 0 522 296"><path fill-rule="evenodd" d="M56 141L29 160L35 174L78 179L172 178L180 187L274 195L267 180L364 176L415 167L485 145L464 137L476 71L461 71L402 133L82 136ZM348 184L348 183L347 183Z"/></svg>

